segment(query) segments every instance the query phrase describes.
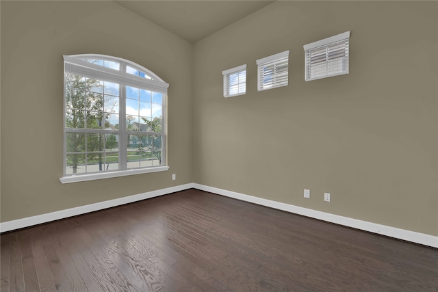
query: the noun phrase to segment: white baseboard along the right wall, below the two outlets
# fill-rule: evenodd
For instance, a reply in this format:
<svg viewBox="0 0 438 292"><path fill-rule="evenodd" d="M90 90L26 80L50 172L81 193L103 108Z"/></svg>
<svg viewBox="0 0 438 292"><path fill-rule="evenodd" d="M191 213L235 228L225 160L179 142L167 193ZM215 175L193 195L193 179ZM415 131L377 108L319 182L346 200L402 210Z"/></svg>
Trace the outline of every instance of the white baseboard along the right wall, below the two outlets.
<svg viewBox="0 0 438 292"><path fill-rule="evenodd" d="M352 228L357 228L360 230L365 230L371 233L377 233L380 235L386 235L389 237L394 237L397 239L402 239L406 241L411 241L414 243L420 243L422 245L428 245L433 248L438 248L438 237L433 235L426 235L424 233L416 233L410 230L404 230L400 228L395 228L391 226L385 226L381 224L376 224L372 222L366 222L362 220L357 220L349 217L343 217L339 215L334 215L331 213L324 213L321 211L315 211L312 209L302 208L294 206L292 204L285 204L282 202L276 202L272 200L266 200L263 198L257 198L254 196L248 196L245 194L236 193L235 191L227 191L226 189L218 189L216 187L208 187L207 185L199 185L194 183L195 189L200 189L202 191L209 191L214 194L227 196L230 198L235 198L237 200L243 200L246 202L252 202L254 204L259 204L262 206L279 209L287 211L290 213L295 213L298 215L304 215L307 217L315 218L318 220L324 220L326 222L331 222L343 226L348 226Z"/></svg>

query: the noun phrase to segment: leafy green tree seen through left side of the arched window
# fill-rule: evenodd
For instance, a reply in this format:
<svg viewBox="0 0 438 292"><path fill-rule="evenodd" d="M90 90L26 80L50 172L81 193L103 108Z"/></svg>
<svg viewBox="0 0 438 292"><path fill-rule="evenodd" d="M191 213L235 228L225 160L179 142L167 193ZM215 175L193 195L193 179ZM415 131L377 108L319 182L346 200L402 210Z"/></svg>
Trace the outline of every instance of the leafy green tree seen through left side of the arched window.
<svg viewBox="0 0 438 292"><path fill-rule="evenodd" d="M66 75L66 128L101 129L103 124L103 82L96 79L67 74ZM103 134L68 133L66 137L67 152L87 152L103 150ZM87 139L86 139L87 137ZM86 145L87 144L87 145ZM93 160L101 155L88 153L87 159ZM85 155L72 153L67 155L67 165L77 173L78 165L85 160Z"/></svg>

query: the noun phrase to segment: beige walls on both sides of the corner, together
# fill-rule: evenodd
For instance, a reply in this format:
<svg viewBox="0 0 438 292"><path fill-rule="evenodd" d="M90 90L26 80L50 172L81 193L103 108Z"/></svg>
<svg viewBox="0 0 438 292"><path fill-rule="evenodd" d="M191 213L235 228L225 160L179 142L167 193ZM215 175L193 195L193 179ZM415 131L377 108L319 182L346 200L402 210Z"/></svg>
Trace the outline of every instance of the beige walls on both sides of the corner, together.
<svg viewBox="0 0 438 292"><path fill-rule="evenodd" d="M195 182L438 235L436 12L279 1L193 46L108 1L1 1L1 222ZM302 45L348 30L350 74L305 82ZM257 92L255 60L287 49L289 85ZM62 55L78 53L170 83L168 172L60 183ZM223 98L242 64L247 94Z"/></svg>

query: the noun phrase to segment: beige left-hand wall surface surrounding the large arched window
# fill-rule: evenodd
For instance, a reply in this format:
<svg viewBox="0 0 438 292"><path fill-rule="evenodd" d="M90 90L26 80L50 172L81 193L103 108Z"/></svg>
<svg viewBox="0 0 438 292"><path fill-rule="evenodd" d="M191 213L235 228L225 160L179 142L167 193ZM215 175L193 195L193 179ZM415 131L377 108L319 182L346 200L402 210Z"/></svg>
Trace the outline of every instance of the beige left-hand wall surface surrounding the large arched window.
<svg viewBox="0 0 438 292"><path fill-rule="evenodd" d="M170 83L168 172L60 183L62 55L80 53L123 57ZM192 44L116 3L1 1L1 222L191 183L191 67Z"/></svg>

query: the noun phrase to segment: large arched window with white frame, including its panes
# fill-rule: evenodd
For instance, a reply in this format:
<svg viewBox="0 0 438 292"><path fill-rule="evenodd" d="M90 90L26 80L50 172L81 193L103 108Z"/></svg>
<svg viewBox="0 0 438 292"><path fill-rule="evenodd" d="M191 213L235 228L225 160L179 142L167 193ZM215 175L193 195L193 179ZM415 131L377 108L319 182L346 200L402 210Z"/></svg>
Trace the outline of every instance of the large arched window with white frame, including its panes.
<svg viewBox="0 0 438 292"><path fill-rule="evenodd" d="M107 55L64 55L62 183L168 170L168 83Z"/></svg>

